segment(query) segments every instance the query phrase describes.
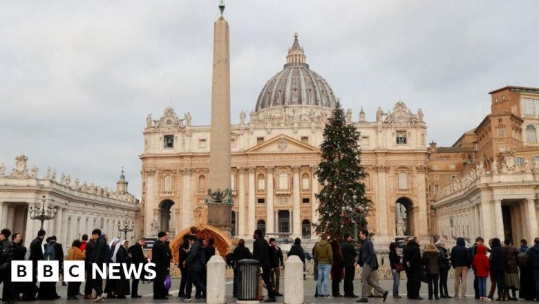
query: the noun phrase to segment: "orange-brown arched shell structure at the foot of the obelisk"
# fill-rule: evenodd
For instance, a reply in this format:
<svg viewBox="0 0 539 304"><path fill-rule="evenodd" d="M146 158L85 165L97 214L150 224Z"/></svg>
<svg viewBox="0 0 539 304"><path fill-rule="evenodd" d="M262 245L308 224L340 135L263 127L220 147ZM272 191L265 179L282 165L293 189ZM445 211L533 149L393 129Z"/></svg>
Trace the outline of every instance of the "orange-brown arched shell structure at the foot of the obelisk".
<svg viewBox="0 0 539 304"><path fill-rule="evenodd" d="M199 238L204 238L205 240L208 240L209 238L214 238L214 246L216 251L218 251L216 252L216 254L219 254L223 258L223 260L225 260L225 256L232 247L232 241L230 240L230 238L223 234L223 232L221 232L219 229L211 225L199 223L198 225L195 225L195 227L197 229L196 236L198 236ZM176 262L180 260L180 246L183 243L183 236L185 236L186 234L190 234L190 229L191 227L182 230L180 234L177 234L170 243L170 249Z"/></svg>

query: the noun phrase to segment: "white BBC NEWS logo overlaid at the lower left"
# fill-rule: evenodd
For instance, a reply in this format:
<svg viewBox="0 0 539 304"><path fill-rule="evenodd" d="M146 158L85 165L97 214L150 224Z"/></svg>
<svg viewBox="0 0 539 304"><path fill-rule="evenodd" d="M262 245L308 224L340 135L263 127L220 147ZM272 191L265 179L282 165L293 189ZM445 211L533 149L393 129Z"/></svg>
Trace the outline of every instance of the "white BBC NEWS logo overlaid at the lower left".
<svg viewBox="0 0 539 304"><path fill-rule="evenodd" d="M120 272L124 273L124 278L140 279L144 271L144 279L153 280L157 275L155 273L155 263L143 265L126 265L123 263L109 263L108 271L106 264L92 264L92 277L99 274L102 278L108 274L108 278L119 279ZM86 265L84 260L66 260L64 261L64 282L84 282ZM31 260L13 260L11 262L11 278L13 282L32 282L34 273ZM38 260L37 261L37 281L38 282L58 282L60 274L59 261L57 260Z"/></svg>

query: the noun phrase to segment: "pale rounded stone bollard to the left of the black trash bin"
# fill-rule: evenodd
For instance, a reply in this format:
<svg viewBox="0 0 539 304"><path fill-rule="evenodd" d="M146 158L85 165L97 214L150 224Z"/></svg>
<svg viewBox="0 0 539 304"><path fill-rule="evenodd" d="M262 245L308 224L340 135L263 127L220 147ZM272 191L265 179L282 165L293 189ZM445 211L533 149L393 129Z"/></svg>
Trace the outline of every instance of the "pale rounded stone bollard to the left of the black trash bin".
<svg viewBox="0 0 539 304"><path fill-rule="evenodd" d="M227 264L221 256L212 256L207 265L206 303L227 303Z"/></svg>

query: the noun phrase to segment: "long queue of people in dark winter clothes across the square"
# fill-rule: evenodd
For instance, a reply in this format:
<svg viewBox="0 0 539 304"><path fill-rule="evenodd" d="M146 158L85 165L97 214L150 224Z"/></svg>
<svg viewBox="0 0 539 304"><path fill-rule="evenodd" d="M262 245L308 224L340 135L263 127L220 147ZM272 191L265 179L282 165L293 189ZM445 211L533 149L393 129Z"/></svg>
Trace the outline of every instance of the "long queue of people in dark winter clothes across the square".
<svg viewBox="0 0 539 304"><path fill-rule="evenodd" d="M216 254L214 239L203 239L196 236L196 227L183 237L179 247L178 267L181 272L178 297L182 301L191 301L193 285L196 298L205 298L207 285L207 262ZM263 287L267 289L265 302L276 302L279 291L281 271L284 267L283 251L274 238L267 240L261 230L253 234L253 251L245 246L245 240L236 239L234 250L227 254L226 262L234 269L233 294L238 296L238 267L240 260L254 259L259 266L258 299L263 301ZM359 242L354 243L352 236L346 234L339 245L323 234L312 249L314 259L314 279L316 280L315 296L319 298L347 297L358 298L357 302L366 303L368 298L383 298L386 301L389 291L380 287L377 270L379 261L376 251L366 229L359 231ZM473 272L473 289L475 299L492 301L497 293L496 301L539 301L539 238L533 240L528 247L527 240L520 240L520 247L515 247L511 240L503 242L499 238L484 243L477 237L475 244L466 247L464 238L457 238L456 245L447 249L444 243L429 243L422 252L419 238L406 237L404 247L399 254L396 243L389 246L389 264L393 275L393 298L401 298L399 284L401 272L406 273L406 297L422 300L419 296L422 283L428 285L428 299L466 298L466 280L468 272ZM63 261L80 260L86 266L86 283L81 293L80 282L69 282L67 298L77 299L83 296L94 302L102 302L105 298L140 298L138 285L140 281L150 283L144 278L126 278L119 272L120 278L108 278L105 285L100 272L93 276L90 269L97 264L121 263L139 267L144 263L155 263L153 278L153 299L167 299L170 288L170 267L176 261L169 244L169 234L161 231L151 249L151 259L144 256L143 247L146 238L140 237L138 242L129 246L127 240L113 238L108 240L100 229L94 229L91 238L85 234L81 240L74 240L67 255L63 246L57 243L56 236L46 238L43 229L37 232L28 250L23 246L21 234L11 234L9 229L0 231L0 283L3 283L2 300L15 303L19 300L55 300L60 298L55 282L41 282L37 285L37 263L39 260L58 260L60 274L63 273ZM301 247L301 239L296 238L287 256L298 256L305 267L305 251ZM12 260L31 260L33 265L32 282L13 283L11 279ZM384 263L384 260L382 260ZM354 276L357 267L361 267L361 295L354 294ZM448 291L448 272L454 269L454 293ZM489 280L490 278L490 280ZM330 285L331 283L331 292ZM59 278L63 285L64 281ZM340 283L343 283L341 294ZM487 289L490 281L490 289ZM167 285L168 282L168 285ZM517 297L517 292L519 292Z"/></svg>

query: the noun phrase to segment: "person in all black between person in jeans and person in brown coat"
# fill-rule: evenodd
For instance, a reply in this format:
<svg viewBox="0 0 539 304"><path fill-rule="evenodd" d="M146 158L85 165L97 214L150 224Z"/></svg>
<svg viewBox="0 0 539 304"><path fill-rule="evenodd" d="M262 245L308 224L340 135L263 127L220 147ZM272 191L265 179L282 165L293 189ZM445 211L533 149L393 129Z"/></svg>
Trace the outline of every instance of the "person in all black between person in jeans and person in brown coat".
<svg viewBox="0 0 539 304"><path fill-rule="evenodd" d="M414 237L408 241L408 244L402 249L402 263L406 272L406 292L410 299L421 300L419 289L421 289L421 251L419 250L419 238Z"/></svg>

